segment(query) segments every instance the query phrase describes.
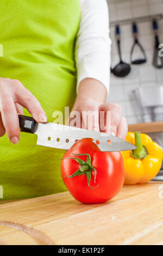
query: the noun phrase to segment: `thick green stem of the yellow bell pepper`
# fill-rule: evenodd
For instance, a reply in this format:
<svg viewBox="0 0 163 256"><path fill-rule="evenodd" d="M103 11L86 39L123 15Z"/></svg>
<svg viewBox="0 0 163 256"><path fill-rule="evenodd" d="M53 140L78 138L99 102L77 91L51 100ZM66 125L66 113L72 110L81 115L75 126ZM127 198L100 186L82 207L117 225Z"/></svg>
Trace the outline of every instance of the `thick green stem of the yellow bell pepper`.
<svg viewBox="0 0 163 256"><path fill-rule="evenodd" d="M135 159L145 159L148 155L148 151L146 149L146 146L142 145L140 132L135 132L135 146L137 149L132 150L131 155Z"/></svg>

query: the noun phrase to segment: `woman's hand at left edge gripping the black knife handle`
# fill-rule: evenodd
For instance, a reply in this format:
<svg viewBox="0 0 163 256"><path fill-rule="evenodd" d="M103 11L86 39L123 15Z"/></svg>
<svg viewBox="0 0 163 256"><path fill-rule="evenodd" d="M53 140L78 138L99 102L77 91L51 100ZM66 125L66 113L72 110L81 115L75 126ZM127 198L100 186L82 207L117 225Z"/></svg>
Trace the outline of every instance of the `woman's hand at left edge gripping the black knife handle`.
<svg viewBox="0 0 163 256"><path fill-rule="evenodd" d="M13 144L20 140L18 114L23 114L23 107L37 123L47 121L40 102L20 81L0 77L0 137L6 132Z"/></svg>

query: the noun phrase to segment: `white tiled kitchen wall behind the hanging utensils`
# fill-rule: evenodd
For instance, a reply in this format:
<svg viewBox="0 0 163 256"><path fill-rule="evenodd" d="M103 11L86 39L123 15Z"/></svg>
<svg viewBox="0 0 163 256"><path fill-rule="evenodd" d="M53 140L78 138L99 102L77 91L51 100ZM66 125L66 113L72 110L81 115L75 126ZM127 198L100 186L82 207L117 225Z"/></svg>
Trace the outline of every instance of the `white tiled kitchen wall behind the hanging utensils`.
<svg viewBox="0 0 163 256"><path fill-rule="evenodd" d="M163 0L108 0L110 21L133 19L135 17L163 13ZM160 43L163 43L163 20L159 24ZM132 90L139 87L163 86L163 69L155 69L152 65L154 35L152 23L137 23L139 40L145 48L148 62L146 64L131 66L131 72L124 78L118 78L111 74L109 101L114 101L122 107L123 115L128 123L140 123L142 121L139 111L135 106ZM111 63L112 66L119 62L115 39L115 27L110 27ZM133 44L131 25L121 26L122 57L125 62L130 62L130 49Z"/></svg>

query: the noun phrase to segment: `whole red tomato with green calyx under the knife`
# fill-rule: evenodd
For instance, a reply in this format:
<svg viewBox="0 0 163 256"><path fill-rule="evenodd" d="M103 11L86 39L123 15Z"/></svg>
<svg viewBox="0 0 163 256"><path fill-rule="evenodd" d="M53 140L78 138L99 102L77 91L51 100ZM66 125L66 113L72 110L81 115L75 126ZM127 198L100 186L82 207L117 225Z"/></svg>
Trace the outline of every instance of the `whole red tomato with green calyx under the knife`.
<svg viewBox="0 0 163 256"><path fill-rule="evenodd" d="M75 159L66 157L77 157L86 162L87 156L74 154L89 154L92 167L87 168L88 165L85 163L84 166L86 165L88 170L81 172L81 164ZM78 174L70 178L77 170L79 170ZM88 177L91 175L90 187L87 175ZM74 143L63 156L61 161L61 176L72 196L79 202L87 204L103 203L115 197L123 186L123 158L120 152L102 152L92 142L91 138L84 138Z"/></svg>

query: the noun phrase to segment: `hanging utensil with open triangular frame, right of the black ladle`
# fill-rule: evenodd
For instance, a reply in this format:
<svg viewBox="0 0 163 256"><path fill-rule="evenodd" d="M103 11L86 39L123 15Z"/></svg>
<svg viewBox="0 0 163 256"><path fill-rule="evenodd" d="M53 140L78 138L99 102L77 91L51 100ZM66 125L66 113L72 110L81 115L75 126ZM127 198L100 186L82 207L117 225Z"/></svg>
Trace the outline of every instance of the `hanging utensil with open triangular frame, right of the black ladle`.
<svg viewBox="0 0 163 256"><path fill-rule="evenodd" d="M146 56L146 52L145 52L144 48L142 47L139 40L137 39L137 25L135 22L133 23L133 35L134 35L135 40L134 40L134 44L133 44L133 46L131 48L131 52L130 52L131 64L135 64L135 65L143 64L143 63L147 62L147 56ZM133 60L133 55L134 55L136 46L139 47L139 50L142 53L143 57Z"/></svg>

